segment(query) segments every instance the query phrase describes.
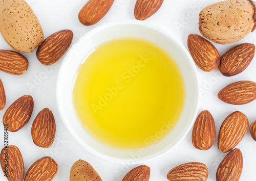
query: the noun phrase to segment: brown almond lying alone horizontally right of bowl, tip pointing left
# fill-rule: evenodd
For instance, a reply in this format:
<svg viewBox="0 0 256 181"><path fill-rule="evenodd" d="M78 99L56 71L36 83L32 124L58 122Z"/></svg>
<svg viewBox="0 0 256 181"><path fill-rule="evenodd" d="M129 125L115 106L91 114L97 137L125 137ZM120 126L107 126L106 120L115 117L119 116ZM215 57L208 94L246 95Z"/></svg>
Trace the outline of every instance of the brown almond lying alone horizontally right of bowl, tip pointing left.
<svg viewBox="0 0 256 181"><path fill-rule="evenodd" d="M218 93L219 99L232 105L245 105L256 99L256 83L240 81L224 87Z"/></svg>

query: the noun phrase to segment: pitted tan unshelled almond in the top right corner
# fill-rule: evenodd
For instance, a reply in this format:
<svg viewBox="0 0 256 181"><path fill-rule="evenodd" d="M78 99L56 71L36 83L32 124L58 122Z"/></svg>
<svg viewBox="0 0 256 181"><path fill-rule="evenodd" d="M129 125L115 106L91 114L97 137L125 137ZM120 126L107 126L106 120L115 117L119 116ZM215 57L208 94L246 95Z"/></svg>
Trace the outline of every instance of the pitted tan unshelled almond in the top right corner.
<svg viewBox="0 0 256 181"><path fill-rule="evenodd" d="M220 44L243 39L255 29L255 6L250 1L228 0L204 8L199 15L200 33Z"/></svg>

